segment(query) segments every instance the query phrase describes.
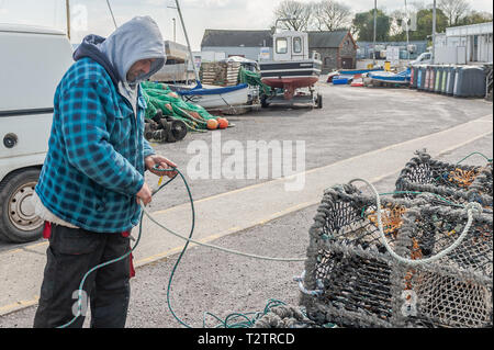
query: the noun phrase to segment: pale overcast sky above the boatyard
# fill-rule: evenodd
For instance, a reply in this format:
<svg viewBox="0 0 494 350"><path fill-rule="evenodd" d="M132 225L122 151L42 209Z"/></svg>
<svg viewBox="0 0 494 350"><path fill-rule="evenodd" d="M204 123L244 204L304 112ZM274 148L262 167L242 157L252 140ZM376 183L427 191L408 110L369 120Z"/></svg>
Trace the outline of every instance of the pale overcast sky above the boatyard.
<svg viewBox="0 0 494 350"><path fill-rule="evenodd" d="M183 21L193 50L200 50L206 29L265 30L274 22L273 10L282 0L180 0ZM311 2L314 0L301 0ZM413 3L417 0L408 0ZM373 0L346 0L352 12L368 11ZM431 4L433 0L418 0ZM493 11L492 0L469 0L476 11ZM175 9L175 0L110 0L117 24L135 15L150 15L159 25L165 39L173 39L176 19L177 42L186 44ZM378 0L378 8L393 11L404 9L402 0ZM115 26L105 0L70 0L71 42L78 44L88 34L110 35ZM65 0L0 0L0 23L16 23L56 27L66 31Z"/></svg>

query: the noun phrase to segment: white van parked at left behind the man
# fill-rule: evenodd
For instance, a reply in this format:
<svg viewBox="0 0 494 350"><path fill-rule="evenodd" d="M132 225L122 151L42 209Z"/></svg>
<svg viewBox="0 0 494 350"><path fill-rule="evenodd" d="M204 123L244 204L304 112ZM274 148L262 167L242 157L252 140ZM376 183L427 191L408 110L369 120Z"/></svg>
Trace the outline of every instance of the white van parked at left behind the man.
<svg viewBox="0 0 494 350"><path fill-rule="evenodd" d="M31 196L40 178L55 90L72 64L61 31L0 24L0 239L41 238Z"/></svg>

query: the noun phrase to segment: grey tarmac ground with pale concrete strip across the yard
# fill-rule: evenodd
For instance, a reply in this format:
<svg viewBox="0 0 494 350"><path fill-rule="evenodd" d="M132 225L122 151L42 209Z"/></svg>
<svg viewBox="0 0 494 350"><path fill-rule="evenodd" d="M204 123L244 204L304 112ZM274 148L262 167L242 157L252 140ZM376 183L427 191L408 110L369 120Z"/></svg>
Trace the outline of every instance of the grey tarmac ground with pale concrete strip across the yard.
<svg viewBox="0 0 494 350"><path fill-rule="evenodd" d="M322 110L270 108L228 117L235 127L226 131L155 145L157 153L178 163L187 177L197 203L197 239L260 256L304 258L324 189L363 178L378 191L393 191L398 171L422 148L449 162L474 151L493 156L491 102L324 82L318 89L324 97ZM304 176L302 189L287 191L290 181L273 177L272 166L280 159L272 154L256 159L255 177L212 176L214 165L224 165L228 157L227 153L214 153L214 143L225 148L232 142L248 150L249 142L259 140L304 143L304 167L297 169ZM210 177L192 179L189 166L202 145L210 150L201 158L209 160ZM296 157L293 160L294 166ZM483 165L485 159L472 156L465 163ZM248 159L244 165L246 172L248 165L252 166ZM261 177L260 169L266 168L268 176ZM155 176L148 174L147 181L157 187ZM148 210L159 222L188 235L190 206L179 179L159 192ZM44 240L0 244L0 328L32 327L46 247ZM271 298L299 305L300 291L293 278L303 272L303 262L257 260L191 245L170 289L173 316L167 291L182 248L183 240L146 218L135 255L137 275L132 280L127 327L180 328L181 321L212 328L232 313L262 311ZM89 317L86 326L88 323Z"/></svg>

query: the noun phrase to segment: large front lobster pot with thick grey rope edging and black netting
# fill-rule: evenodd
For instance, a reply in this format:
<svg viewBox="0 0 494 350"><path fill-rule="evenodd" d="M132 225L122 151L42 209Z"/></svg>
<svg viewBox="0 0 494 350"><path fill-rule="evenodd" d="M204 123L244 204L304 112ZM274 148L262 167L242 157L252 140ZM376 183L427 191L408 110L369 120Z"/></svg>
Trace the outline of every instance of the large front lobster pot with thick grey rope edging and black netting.
<svg viewBox="0 0 494 350"><path fill-rule="evenodd" d="M464 210L429 197L383 197L383 232L400 257L420 260L450 247ZM340 327L492 327L492 215L475 214L449 255L424 264L396 260L382 244L375 199L327 190L310 229L300 304L311 320Z"/></svg>

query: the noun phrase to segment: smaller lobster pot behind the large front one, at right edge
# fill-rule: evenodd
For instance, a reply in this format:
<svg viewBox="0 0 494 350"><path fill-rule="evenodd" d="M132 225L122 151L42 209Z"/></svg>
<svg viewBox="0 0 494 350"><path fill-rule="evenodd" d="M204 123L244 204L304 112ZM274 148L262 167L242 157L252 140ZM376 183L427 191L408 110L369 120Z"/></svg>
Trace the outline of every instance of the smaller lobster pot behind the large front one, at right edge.
<svg viewBox="0 0 494 350"><path fill-rule="evenodd" d="M479 202L483 207L492 210L492 161L484 167L473 167L438 161L425 151L417 151L416 155L402 170L396 181L396 191L429 192L456 204ZM409 193L396 196L416 197Z"/></svg>

